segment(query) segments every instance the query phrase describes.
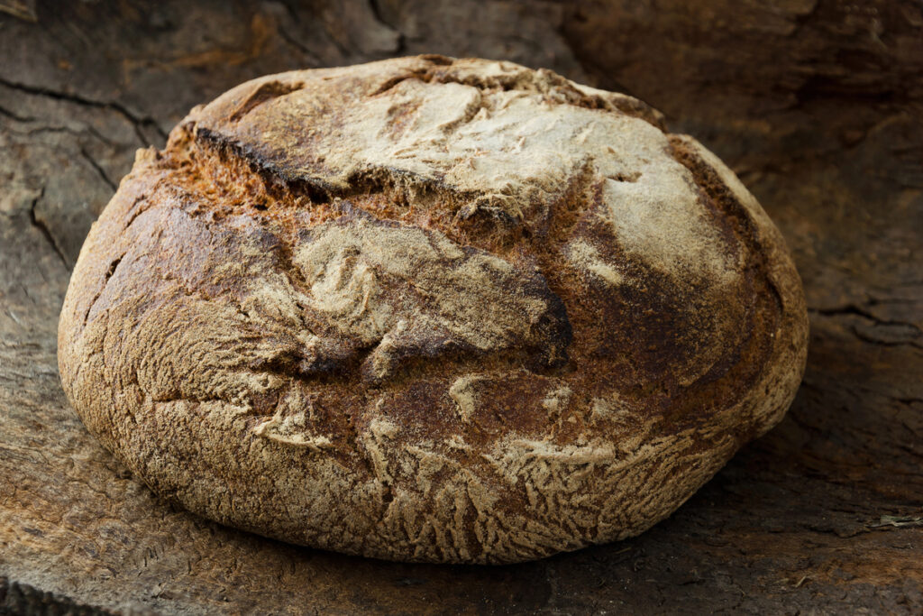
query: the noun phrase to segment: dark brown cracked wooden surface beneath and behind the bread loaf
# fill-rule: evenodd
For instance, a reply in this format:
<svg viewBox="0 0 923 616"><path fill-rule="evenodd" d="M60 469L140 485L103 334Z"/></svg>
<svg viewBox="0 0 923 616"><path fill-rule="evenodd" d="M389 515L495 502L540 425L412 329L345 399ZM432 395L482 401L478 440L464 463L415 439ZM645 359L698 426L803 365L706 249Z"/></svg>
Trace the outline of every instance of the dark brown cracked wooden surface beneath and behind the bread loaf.
<svg viewBox="0 0 923 616"><path fill-rule="evenodd" d="M923 6L653 5L0 0L0 613L920 613ZM286 546L158 501L61 391L68 272L138 147L245 79L422 52L641 97L795 254L795 404L641 537L498 568Z"/></svg>

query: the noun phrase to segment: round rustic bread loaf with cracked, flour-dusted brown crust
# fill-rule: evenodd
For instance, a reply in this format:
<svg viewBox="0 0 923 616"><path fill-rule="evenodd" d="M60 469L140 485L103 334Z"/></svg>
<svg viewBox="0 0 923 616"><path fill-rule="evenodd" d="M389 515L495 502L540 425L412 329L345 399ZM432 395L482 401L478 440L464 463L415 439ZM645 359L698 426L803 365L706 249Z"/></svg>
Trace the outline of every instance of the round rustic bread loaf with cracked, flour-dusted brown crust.
<svg viewBox="0 0 923 616"><path fill-rule="evenodd" d="M677 509L784 415L807 328L773 223L660 114L418 56L249 81L138 151L58 357L192 512L503 563Z"/></svg>

